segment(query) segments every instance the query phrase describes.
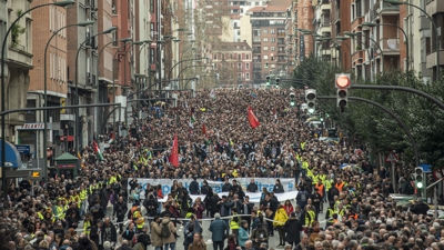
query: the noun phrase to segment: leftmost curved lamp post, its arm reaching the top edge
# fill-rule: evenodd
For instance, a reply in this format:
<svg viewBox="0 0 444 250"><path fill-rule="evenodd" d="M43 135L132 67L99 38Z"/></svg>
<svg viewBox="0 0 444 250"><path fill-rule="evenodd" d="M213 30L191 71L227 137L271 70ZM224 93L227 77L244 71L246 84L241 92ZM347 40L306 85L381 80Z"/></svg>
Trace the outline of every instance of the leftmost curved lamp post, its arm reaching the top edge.
<svg viewBox="0 0 444 250"><path fill-rule="evenodd" d="M31 12L34 9L41 8L41 7L47 7L47 6L56 6L56 7L64 7L64 8L70 8L75 3L75 1L73 0L65 0L65 1L60 1L60 2L50 2L50 3L44 3L44 4L40 4L40 6L36 6L33 8L30 8L29 10L24 11L23 13L21 13L19 17L17 17L17 19L11 23L11 26L8 28L7 32L4 33L4 38L1 44L1 111L6 111L6 100L4 100L4 57L6 57L6 47L7 47L7 42L8 42L8 36L11 32L12 28L16 26L16 23L22 18L24 17L27 13ZM4 114L1 116L1 181L2 181L2 190L3 190L3 198L7 199L8 194L7 194L7 177L6 177L6 121L4 121ZM47 129L47 128L44 128Z"/></svg>

